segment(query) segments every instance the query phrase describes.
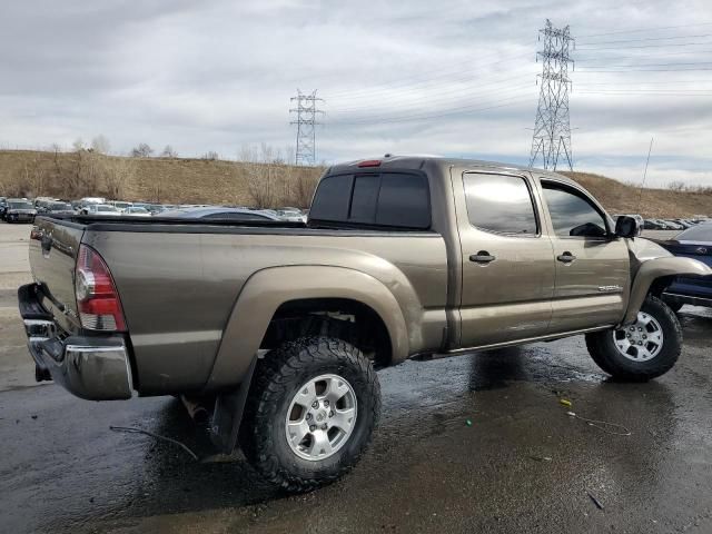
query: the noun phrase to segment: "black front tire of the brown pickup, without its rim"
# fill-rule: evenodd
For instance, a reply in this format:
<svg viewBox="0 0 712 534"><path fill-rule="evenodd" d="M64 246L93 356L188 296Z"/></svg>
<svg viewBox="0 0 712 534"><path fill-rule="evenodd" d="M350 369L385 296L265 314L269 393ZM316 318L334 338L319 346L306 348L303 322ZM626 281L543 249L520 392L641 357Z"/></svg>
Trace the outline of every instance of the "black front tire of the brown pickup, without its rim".
<svg viewBox="0 0 712 534"><path fill-rule="evenodd" d="M586 334L589 354L599 367L614 378L645 382L664 375L678 362L682 350L682 327L673 310L661 299L649 295L641 312L653 316L663 332L663 346L652 359L634 362L623 356L615 346L611 330Z"/></svg>

